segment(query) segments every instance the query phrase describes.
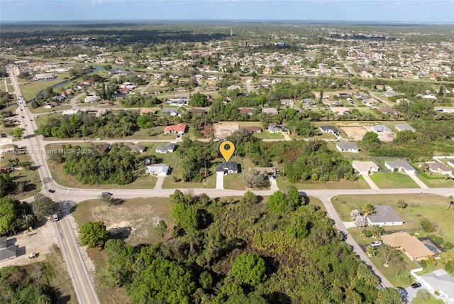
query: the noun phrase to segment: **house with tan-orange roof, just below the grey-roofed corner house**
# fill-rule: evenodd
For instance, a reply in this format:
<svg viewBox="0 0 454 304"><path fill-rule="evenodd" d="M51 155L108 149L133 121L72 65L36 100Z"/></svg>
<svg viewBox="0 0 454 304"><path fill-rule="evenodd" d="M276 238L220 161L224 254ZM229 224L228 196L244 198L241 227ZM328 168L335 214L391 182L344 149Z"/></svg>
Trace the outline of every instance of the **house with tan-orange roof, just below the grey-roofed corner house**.
<svg viewBox="0 0 454 304"><path fill-rule="evenodd" d="M411 237L408 232L396 232L393 234L382 235L384 244L404 251L411 261L421 261L427 259L428 256L435 254L416 237Z"/></svg>

